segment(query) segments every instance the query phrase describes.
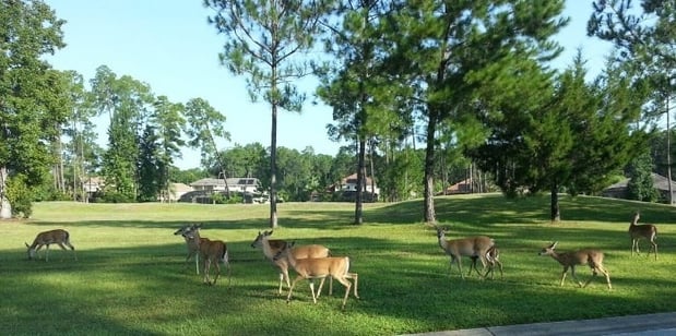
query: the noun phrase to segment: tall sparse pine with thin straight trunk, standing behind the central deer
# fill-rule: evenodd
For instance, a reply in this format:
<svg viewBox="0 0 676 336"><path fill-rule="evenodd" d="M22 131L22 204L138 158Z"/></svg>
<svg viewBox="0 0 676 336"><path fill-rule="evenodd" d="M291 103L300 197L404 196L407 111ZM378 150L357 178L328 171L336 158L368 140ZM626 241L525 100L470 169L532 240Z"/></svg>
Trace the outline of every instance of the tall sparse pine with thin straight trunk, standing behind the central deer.
<svg viewBox="0 0 676 336"><path fill-rule="evenodd" d="M271 107L270 226L276 228L277 110L301 109L305 95L293 81L310 69L298 56L312 47L325 9L321 1L303 0L204 0L204 5L215 11L210 22L227 36L221 61L234 74L248 75L251 99L262 97Z"/></svg>

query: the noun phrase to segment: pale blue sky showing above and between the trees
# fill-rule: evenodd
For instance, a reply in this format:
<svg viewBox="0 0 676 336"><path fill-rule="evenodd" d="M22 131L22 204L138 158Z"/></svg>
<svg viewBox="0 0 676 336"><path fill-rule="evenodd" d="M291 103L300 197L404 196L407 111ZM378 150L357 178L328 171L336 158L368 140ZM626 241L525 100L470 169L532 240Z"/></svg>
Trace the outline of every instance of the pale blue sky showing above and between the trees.
<svg viewBox="0 0 676 336"><path fill-rule="evenodd" d="M86 81L99 65L107 65L118 76L131 75L151 85L156 95L175 103L201 97L227 118L225 128L230 147L259 142L270 145L270 108L249 100L245 79L233 76L218 62L224 36L206 23L209 9L201 0L46 0L63 26L67 47L48 60L58 70L75 70ZM609 50L606 43L586 37L586 20L591 1L567 0L565 15L570 24L557 36L566 51L556 67L570 64L581 47L588 69L597 73ZM313 82L300 85L311 96ZM332 123L331 108L312 105L308 99L301 113L281 111L277 120L277 145L315 153L335 155L341 145L327 135ZM99 124L100 143L105 145L105 119ZM183 152L176 161L181 169L199 167L199 154Z"/></svg>

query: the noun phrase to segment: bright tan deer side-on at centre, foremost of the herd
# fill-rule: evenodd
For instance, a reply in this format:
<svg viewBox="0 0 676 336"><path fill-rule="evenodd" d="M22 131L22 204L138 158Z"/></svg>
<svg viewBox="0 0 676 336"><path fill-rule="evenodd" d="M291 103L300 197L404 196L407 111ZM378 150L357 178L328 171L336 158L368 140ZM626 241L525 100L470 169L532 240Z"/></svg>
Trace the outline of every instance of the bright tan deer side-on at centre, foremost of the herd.
<svg viewBox="0 0 676 336"><path fill-rule="evenodd" d="M325 278L327 276L333 277L334 279L339 280L339 283L343 284L343 286L345 286L345 297L343 298L342 309L345 309L345 303L347 302L347 297L349 296L349 288L352 287L352 283L347 280L348 278L353 278L355 280L355 298L359 298L359 296L357 295L358 276L356 273L349 273L349 257L328 256L317 259L296 259L290 252L293 245L294 242L286 244L273 257L273 260L275 261L286 259L288 261L288 264L294 267L294 271L296 271L296 273L298 274L298 276L292 283L292 286L288 288L286 303L290 302L294 287L296 287L296 283L301 279L310 280L312 302L317 303L318 296L315 293L313 279Z"/></svg>

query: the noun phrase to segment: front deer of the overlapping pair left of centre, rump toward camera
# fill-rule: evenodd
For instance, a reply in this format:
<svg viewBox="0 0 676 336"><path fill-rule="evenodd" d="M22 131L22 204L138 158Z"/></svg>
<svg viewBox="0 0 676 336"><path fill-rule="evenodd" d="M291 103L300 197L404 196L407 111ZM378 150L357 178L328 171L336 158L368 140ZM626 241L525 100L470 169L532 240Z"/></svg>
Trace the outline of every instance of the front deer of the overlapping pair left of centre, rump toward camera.
<svg viewBox="0 0 676 336"><path fill-rule="evenodd" d="M201 225L193 225L189 230L183 232L182 236L186 238L186 241L190 241L189 244L197 244L199 247L199 254L204 261L204 284L209 286L216 285L216 280L218 280L218 277L221 276L221 266L218 264L223 263L227 268L229 285L232 281L230 262L226 243L221 240L210 240L209 238L200 237L200 227ZM214 276L213 281L209 277L209 272L212 264L216 267L216 275Z"/></svg>

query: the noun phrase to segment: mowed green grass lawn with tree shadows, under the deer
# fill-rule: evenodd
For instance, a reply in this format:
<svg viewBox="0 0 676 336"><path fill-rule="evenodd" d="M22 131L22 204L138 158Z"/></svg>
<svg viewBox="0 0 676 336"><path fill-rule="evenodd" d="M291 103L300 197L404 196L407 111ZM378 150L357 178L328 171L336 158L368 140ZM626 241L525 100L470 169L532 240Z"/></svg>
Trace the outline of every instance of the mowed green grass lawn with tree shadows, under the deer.
<svg viewBox="0 0 676 336"><path fill-rule="evenodd" d="M462 280L422 220L420 200L367 204L361 226L354 204L283 203L272 238L320 243L352 257L360 299L341 310L344 293L312 303L307 281L287 304L277 272L250 247L269 229L268 205L37 203L28 220L0 223L1 335L395 335L443 329L676 311L676 208L598 197L561 196L559 224L549 196L507 200L498 194L438 197L448 238L487 235L501 250L505 278ZM659 260L630 256L635 211L657 225ZM202 237L227 242L232 284L202 284L174 231L202 223ZM28 261L24 242L37 232L71 232L70 251ZM593 247L606 253L613 290L603 277L579 288L562 267L537 252ZM44 255L40 251L40 255ZM469 271L469 259L463 260ZM292 277L295 274L292 272ZM578 276L591 276L578 267Z"/></svg>

